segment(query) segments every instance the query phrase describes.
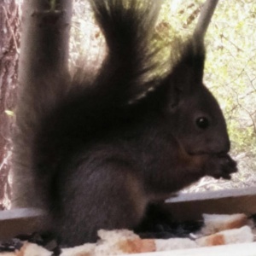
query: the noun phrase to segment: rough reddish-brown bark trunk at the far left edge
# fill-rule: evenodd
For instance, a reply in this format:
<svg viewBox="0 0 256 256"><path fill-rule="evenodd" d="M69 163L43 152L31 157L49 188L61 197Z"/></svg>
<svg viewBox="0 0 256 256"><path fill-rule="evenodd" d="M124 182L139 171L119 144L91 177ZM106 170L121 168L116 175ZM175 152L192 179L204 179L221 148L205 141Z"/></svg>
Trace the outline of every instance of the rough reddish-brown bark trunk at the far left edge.
<svg viewBox="0 0 256 256"><path fill-rule="evenodd" d="M10 133L16 102L18 52L20 49L20 5L0 1L0 209L9 207Z"/></svg>

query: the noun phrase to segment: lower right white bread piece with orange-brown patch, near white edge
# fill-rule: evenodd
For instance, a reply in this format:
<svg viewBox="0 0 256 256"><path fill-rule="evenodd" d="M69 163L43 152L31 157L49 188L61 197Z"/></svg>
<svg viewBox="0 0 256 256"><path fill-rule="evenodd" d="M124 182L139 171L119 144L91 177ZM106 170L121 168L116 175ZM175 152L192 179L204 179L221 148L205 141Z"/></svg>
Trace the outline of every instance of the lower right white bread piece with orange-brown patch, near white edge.
<svg viewBox="0 0 256 256"><path fill-rule="evenodd" d="M203 236L195 242L200 247L253 242L253 231L248 226L243 226L240 229L224 230L210 236Z"/></svg>

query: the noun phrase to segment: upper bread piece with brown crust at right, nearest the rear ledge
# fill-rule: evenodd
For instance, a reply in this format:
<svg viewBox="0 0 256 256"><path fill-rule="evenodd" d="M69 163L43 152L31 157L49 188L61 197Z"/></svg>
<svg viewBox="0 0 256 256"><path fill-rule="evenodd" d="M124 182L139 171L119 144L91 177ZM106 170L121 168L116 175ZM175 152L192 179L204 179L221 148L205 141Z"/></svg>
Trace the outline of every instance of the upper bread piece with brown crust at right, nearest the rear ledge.
<svg viewBox="0 0 256 256"><path fill-rule="evenodd" d="M202 235L212 235L222 230L238 229L244 225L249 225L247 215L237 214L203 214L204 226L200 233Z"/></svg>

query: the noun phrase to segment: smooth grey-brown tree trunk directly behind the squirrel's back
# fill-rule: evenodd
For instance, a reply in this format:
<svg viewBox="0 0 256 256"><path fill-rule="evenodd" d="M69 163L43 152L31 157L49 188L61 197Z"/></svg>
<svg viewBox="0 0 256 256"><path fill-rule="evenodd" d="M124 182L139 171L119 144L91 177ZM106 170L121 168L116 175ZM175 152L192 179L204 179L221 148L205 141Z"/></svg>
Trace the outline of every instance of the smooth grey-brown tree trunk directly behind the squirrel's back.
<svg viewBox="0 0 256 256"><path fill-rule="evenodd" d="M25 0L23 4L12 207L40 207L31 166L33 132L41 112L50 108L67 84L71 10L70 0Z"/></svg>

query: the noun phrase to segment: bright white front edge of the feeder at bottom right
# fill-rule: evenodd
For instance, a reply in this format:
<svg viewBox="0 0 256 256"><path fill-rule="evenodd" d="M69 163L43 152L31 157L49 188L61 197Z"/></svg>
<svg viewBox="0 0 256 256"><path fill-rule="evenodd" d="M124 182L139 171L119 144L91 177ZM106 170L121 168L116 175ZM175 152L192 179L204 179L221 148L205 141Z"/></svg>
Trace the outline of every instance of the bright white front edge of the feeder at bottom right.
<svg viewBox="0 0 256 256"><path fill-rule="evenodd" d="M216 247L200 247L156 253L136 253L131 256L256 256L256 242Z"/></svg>

